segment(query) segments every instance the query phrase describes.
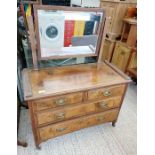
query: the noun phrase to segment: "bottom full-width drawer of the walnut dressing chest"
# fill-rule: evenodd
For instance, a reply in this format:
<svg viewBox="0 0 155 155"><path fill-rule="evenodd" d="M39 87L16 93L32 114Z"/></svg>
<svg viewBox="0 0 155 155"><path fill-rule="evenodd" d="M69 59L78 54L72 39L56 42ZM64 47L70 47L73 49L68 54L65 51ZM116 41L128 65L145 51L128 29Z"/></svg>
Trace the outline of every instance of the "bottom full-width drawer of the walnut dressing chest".
<svg viewBox="0 0 155 155"><path fill-rule="evenodd" d="M38 132L40 140L45 141L47 139L70 133L81 128L86 128L105 122L112 122L117 119L118 111L118 109L109 110L106 112L84 116L39 128Z"/></svg>

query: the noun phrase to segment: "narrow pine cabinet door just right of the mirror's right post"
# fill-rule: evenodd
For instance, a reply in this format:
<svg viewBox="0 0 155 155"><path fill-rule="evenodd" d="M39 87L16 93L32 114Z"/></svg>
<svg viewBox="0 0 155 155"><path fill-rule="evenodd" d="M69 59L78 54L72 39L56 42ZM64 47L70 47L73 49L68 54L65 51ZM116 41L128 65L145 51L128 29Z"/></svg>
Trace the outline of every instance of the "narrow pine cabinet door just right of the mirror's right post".
<svg viewBox="0 0 155 155"><path fill-rule="evenodd" d="M116 41L110 40L110 39L105 39L104 46L103 46L103 51L102 51L102 60L107 60L111 61L114 47L115 47Z"/></svg>

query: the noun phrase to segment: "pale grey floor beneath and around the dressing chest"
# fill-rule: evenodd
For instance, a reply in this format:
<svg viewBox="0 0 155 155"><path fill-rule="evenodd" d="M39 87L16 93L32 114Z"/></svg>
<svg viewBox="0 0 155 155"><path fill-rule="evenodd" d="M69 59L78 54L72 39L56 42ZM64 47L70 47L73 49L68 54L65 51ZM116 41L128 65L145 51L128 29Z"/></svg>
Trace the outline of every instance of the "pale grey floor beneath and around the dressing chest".
<svg viewBox="0 0 155 155"><path fill-rule="evenodd" d="M35 148L28 110L21 110L18 155L136 155L137 87L129 85L116 127L98 125L48 140Z"/></svg>

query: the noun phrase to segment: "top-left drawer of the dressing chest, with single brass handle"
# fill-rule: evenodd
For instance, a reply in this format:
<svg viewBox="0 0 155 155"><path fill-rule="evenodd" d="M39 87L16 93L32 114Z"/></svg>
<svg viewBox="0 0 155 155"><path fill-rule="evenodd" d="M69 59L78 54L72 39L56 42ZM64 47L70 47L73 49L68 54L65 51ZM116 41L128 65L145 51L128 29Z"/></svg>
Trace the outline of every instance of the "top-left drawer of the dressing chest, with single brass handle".
<svg viewBox="0 0 155 155"><path fill-rule="evenodd" d="M45 110L58 106L80 103L83 100L83 93L73 93L63 96L56 96L47 99L33 101L34 110Z"/></svg>

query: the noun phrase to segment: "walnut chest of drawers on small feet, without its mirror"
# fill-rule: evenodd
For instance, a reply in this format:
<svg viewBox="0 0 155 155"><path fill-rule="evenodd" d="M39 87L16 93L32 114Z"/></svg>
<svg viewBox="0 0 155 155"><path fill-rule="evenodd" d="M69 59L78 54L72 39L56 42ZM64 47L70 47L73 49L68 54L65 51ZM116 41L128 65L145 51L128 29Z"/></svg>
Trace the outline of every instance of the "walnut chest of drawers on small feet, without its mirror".
<svg viewBox="0 0 155 155"><path fill-rule="evenodd" d="M130 79L109 64L23 70L36 147L48 139L115 122Z"/></svg>

